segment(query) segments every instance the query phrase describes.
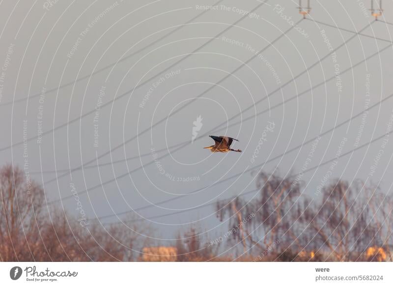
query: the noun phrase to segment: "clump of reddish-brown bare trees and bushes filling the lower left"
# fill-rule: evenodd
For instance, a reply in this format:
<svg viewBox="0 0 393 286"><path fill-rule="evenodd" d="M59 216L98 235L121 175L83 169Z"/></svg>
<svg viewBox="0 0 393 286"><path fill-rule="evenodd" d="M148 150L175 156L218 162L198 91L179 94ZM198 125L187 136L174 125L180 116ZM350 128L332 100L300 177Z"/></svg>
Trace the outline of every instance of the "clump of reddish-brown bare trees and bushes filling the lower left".
<svg viewBox="0 0 393 286"><path fill-rule="evenodd" d="M49 210L43 189L26 178L11 165L0 169L2 261L135 260L134 253L146 241L140 233L149 228L136 223L82 226L64 211Z"/></svg>

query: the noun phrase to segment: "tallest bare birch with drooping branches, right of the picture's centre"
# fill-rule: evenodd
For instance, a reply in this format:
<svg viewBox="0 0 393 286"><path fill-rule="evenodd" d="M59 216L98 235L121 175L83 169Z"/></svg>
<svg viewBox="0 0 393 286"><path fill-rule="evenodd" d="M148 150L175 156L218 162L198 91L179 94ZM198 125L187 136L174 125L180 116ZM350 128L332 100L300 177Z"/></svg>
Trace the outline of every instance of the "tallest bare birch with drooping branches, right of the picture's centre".
<svg viewBox="0 0 393 286"><path fill-rule="evenodd" d="M249 247L256 247L260 253L273 243L277 244L277 241L281 241L280 245L283 246L285 237L294 237L291 225L293 218L300 212L300 206L295 201L300 195L301 182L291 177L282 178L260 172L256 186L260 192L254 200L246 202L236 198L233 201L220 201L216 209L221 221L227 215L232 228L242 227L232 238L243 245L248 241ZM245 222L244 218L247 217L250 219Z"/></svg>

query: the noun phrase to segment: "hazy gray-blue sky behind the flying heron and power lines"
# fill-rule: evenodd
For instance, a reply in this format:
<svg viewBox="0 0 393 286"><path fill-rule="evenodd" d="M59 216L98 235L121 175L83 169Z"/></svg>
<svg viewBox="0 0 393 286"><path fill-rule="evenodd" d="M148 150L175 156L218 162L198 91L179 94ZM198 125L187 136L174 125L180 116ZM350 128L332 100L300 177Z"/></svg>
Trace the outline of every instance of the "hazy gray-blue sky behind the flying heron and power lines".
<svg viewBox="0 0 393 286"><path fill-rule="evenodd" d="M391 47L343 73L388 46L392 41L392 25L381 21L373 23L362 31L371 37L355 36L332 57L329 49L336 49L354 34L312 22L351 31L363 29L373 22L369 11L362 10L362 7L369 9L369 1L312 0L311 14L298 24L299 30L290 30L259 56L255 55L257 51L301 19L297 1L267 1L254 14L212 39L239 20L241 10L251 11L260 3L223 0L216 9L156 43L201 13L201 6L213 5L215 1L59 0L53 5L45 3L38 0L22 4L8 0L0 5L0 65L5 68L0 86L1 161L23 167L25 154L26 171L44 185L48 201L57 200L60 195L72 195L70 183L75 184L78 192L83 192L110 181L90 191L89 196L80 195L89 217L111 215L195 192L138 212L141 217L152 217L253 190L255 173L249 172L250 168L333 128L366 106L378 103L393 90ZM383 4L384 14L380 20L393 22L393 2L383 1ZM197 53L176 63L209 40ZM140 49L132 57L92 77L49 92ZM319 63L326 55L329 56ZM255 58L246 66L214 86L253 56ZM168 71L162 72L171 65ZM311 65L312 69L303 73ZM300 73L303 74L280 89ZM337 77L326 84L304 92L335 75ZM148 79L151 80L140 86ZM139 87L133 90L135 86ZM43 88L46 91L42 96L34 97L42 93ZM211 89L200 96L207 88ZM278 91L272 94L275 90ZM298 98L275 107L299 93L302 95ZM125 96L118 98L122 94ZM260 101L268 94L268 99ZM31 97L28 101L22 100L28 96ZM100 100L109 104L97 108ZM94 109L97 113L51 132L54 127ZM245 109L247 111L242 112ZM264 110L267 112L244 120ZM240 112L241 117L227 121ZM314 147L311 143L305 144L264 164L262 170L287 175L301 172L306 162L310 168L333 159L337 152L343 154L382 136L391 126L392 114L392 99L388 99L368 114L324 135ZM198 115L202 117L202 126L191 143L193 122ZM27 120L25 125L24 120ZM239 121L241 124L231 125ZM274 128L266 129L273 126L272 123ZM230 127L226 128L227 124ZM150 129L152 125L154 128ZM209 134L227 134L238 139L233 146L243 153L212 154L202 148L213 143L204 134L219 125L224 129ZM49 133L39 142L34 139L25 145L4 149L24 140L24 126L26 138L37 136L40 130ZM145 132L136 140L89 166L109 164L84 168L58 180L53 180L54 172L39 173L79 167L142 131ZM343 139L345 142L341 143ZM340 158L334 166L329 163L304 173L306 193L315 196L324 177L350 182L356 178L368 179L380 184L386 192L390 191L393 138L385 139L385 143L381 139ZM158 152L187 141L179 150L170 148L170 155L168 150ZM260 152L255 153L259 147ZM379 156L381 149L384 151ZM312 158L309 157L311 151ZM160 159L161 156L165 157ZM135 159L111 164L129 157ZM153 163L140 169L150 162ZM137 168L140 170L132 172ZM370 170L373 170L372 176ZM212 184L215 185L209 187ZM254 195L245 198L252 199ZM58 203L58 207L78 216L73 198ZM181 224L184 229L196 221L203 229L217 232L223 226L213 211L212 207L199 208L166 216L151 224L157 229L158 239L174 238L179 229L176 225ZM103 222L117 220L111 217Z"/></svg>

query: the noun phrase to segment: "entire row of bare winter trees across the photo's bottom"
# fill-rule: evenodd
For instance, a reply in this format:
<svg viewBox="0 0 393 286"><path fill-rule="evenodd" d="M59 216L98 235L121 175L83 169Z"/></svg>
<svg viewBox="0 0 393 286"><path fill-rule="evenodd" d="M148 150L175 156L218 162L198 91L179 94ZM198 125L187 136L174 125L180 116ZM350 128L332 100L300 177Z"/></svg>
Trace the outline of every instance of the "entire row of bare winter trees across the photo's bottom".
<svg viewBox="0 0 393 286"><path fill-rule="evenodd" d="M260 172L251 200L217 201L223 233L192 225L160 245L133 221L81 225L47 204L43 188L11 165L0 169L0 261L392 261L393 197L361 180L305 194L292 176ZM309 193L309 192L308 192ZM127 222L128 221L128 222Z"/></svg>

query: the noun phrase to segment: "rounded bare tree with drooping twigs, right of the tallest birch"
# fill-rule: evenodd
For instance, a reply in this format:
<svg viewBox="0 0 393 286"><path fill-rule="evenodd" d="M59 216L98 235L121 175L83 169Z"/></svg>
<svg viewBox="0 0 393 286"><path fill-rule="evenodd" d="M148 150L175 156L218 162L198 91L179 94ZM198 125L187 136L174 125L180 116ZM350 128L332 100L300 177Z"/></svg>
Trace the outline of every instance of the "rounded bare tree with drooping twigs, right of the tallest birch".
<svg viewBox="0 0 393 286"><path fill-rule="evenodd" d="M369 198L372 200L372 198ZM309 208L306 222L327 260L349 261L377 241L364 185L337 181L322 191L322 200Z"/></svg>

